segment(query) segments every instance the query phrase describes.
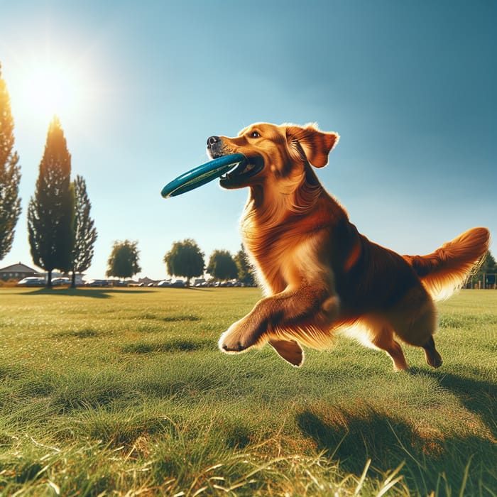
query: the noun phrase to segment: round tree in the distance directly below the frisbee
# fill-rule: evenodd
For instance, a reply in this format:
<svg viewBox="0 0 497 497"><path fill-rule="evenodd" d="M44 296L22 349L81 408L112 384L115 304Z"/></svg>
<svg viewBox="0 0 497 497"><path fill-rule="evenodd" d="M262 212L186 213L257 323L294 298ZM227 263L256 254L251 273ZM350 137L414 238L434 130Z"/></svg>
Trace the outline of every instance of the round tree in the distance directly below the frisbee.
<svg viewBox="0 0 497 497"><path fill-rule="evenodd" d="M192 239L175 241L163 260L168 274L183 276L187 279L187 285L190 284L190 278L204 273L204 254Z"/></svg>

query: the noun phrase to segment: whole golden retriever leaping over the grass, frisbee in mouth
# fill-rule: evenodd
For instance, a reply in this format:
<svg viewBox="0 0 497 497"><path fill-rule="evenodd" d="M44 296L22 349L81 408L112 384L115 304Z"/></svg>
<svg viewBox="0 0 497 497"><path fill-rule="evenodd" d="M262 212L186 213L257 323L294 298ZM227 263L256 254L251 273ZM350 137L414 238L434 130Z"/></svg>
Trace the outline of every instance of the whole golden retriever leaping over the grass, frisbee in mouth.
<svg viewBox="0 0 497 497"><path fill-rule="evenodd" d="M219 181L227 189L249 188L241 234L265 295L222 334L219 348L236 354L268 343L300 366L302 345L325 349L334 334L348 332L386 351L395 370L408 368L398 339L421 347L437 368L434 300L461 287L488 250L488 230L469 229L427 256L400 256L374 244L315 174L338 140L312 124L266 123L236 138L207 140L211 158L247 158Z"/></svg>

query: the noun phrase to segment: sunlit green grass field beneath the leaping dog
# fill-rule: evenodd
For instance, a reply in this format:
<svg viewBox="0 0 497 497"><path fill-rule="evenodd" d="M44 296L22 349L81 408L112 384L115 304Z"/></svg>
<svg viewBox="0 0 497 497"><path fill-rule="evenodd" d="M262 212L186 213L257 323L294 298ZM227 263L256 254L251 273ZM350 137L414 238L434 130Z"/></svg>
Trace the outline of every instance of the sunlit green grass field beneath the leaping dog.
<svg viewBox="0 0 497 497"><path fill-rule="evenodd" d="M0 289L0 495L497 495L497 291L440 305L443 366L403 373L344 338L221 354L258 297Z"/></svg>

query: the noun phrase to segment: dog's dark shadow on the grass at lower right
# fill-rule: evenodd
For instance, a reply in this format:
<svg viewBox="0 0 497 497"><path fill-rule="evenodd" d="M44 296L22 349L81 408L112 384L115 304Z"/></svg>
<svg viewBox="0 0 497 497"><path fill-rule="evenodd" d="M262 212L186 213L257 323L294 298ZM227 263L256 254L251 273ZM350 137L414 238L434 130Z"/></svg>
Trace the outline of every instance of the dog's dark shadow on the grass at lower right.
<svg viewBox="0 0 497 497"><path fill-rule="evenodd" d="M426 376L427 371L413 368L410 374ZM466 491L478 493L482 483L495 488L497 476L495 471L488 470L491 466L488 454L496 454L497 459L497 386L490 381L461 378L452 373L428 374L480 418L488 436L471 434L468 430L464 436L442 433L440 437L423 438L412 424L389 414L388 408L381 412L361 408L355 414L350 410L337 412L334 406L332 420L322 410L307 409L297 414L297 426L315 442L320 452L339 460L344 471L357 476L364 471L368 459L371 459L371 468L379 471L393 470L407 460L409 469L402 471L403 476L417 492L427 495L439 485L441 475L451 482L453 489L461 488L464 466L472 458L471 468L478 469L469 472ZM454 457L461 461L462 469L454 464ZM369 471L371 476L371 469Z"/></svg>

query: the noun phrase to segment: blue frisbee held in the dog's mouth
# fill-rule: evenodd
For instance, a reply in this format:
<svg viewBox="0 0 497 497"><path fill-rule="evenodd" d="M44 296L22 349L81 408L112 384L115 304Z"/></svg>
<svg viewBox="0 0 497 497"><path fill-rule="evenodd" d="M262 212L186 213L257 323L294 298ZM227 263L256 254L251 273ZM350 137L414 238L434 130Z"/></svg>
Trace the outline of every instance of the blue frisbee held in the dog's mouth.
<svg viewBox="0 0 497 497"><path fill-rule="evenodd" d="M236 168L241 163L246 163L246 157L241 153L231 153L217 159L209 160L209 162L199 165L197 168L193 168L187 171L187 173L178 176L173 181L168 182L163 187L160 195L167 199L190 192L194 188L198 188L209 181L219 178L219 176L224 175L230 169Z"/></svg>

